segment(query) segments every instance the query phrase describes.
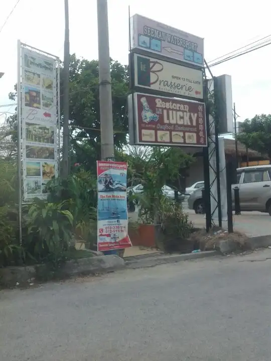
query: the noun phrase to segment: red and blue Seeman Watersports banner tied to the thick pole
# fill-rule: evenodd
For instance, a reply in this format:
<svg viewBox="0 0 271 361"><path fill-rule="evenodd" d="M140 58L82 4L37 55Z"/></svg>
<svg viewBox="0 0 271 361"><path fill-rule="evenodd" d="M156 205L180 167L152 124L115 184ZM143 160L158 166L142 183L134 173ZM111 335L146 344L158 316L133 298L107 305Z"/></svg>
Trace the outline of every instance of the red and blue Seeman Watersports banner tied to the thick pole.
<svg viewBox="0 0 271 361"><path fill-rule="evenodd" d="M98 251L131 247L128 236L127 163L97 161Z"/></svg>

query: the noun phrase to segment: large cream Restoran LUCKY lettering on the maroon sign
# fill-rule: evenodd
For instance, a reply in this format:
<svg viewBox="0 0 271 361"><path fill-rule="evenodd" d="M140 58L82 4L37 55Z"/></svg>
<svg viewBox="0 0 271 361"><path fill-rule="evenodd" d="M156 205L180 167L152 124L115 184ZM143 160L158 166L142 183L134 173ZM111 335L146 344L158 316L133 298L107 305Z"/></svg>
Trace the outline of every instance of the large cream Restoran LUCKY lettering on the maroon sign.
<svg viewBox="0 0 271 361"><path fill-rule="evenodd" d="M189 106L174 103L172 101L165 102L161 99L156 99L157 113L162 114L165 124L180 124L180 125L197 125L198 112L189 112Z"/></svg>

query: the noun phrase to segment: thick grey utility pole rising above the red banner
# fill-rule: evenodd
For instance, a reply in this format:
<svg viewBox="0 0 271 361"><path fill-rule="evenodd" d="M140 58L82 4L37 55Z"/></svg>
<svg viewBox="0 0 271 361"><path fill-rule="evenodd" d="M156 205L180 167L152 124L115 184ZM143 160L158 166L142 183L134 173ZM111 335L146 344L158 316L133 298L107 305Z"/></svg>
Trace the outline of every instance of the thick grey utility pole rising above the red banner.
<svg viewBox="0 0 271 361"><path fill-rule="evenodd" d="M114 160L107 0L97 0L101 159Z"/></svg>

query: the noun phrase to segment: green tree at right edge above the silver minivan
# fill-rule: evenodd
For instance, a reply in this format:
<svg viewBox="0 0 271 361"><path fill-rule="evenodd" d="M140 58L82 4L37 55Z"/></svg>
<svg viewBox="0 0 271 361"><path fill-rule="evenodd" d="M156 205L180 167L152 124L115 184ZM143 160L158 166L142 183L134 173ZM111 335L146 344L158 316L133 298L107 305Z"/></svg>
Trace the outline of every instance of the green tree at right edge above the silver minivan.
<svg viewBox="0 0 271 361"><path fill-rule="evenodd" d="M237 139L246 148L251 148L271 158L271 114L255 115L242 123L242 133Z"/></svg>

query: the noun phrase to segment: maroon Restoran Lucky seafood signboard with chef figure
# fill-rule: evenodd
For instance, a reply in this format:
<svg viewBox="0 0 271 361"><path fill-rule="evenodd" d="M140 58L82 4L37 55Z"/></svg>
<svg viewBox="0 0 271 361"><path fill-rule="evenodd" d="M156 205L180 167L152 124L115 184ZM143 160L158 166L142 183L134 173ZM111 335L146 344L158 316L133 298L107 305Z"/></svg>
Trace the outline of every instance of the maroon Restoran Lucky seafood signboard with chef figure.
<svg viewBox="0 0 271 361"><path fill-rule="evenodd" d="M128 112L130 139L135 144L207 146L204 103L142 93L133 97L134 110L129 98Z"/></svg>

